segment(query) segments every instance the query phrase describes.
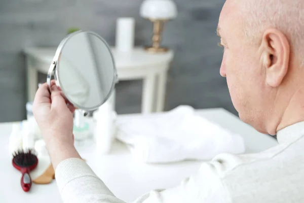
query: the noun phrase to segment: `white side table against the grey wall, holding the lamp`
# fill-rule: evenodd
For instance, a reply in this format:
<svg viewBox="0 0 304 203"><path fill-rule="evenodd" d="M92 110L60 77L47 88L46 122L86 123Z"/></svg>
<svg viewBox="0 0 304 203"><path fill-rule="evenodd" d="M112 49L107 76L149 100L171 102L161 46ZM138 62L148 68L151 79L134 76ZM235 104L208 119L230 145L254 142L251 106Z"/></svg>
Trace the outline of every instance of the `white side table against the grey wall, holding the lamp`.
<svg viewBox="0 0 304 203"><path fill-rule="evenodd" d="M111 48L117 66L119 80L143 79L141 112L164 110L167 72L173 59L173 51L150 54L141 47L132 52L120 52ZM56 48L25 48L27 71L27 100L32 101L37 89L38 72L47 74Z"/></svg>

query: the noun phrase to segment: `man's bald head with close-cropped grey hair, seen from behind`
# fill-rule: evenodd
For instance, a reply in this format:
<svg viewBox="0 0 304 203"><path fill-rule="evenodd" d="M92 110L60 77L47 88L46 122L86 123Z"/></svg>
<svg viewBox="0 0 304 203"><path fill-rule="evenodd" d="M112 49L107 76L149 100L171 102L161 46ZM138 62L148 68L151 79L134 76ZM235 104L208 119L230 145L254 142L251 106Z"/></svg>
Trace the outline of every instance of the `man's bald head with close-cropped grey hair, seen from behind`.
<svg viewBox="0 0 304 203"><path fill-rule="evenodd" d="M220 74L240 118L275 134L304 85L304 1L227 0L217 31L224 47Z"/></svg>

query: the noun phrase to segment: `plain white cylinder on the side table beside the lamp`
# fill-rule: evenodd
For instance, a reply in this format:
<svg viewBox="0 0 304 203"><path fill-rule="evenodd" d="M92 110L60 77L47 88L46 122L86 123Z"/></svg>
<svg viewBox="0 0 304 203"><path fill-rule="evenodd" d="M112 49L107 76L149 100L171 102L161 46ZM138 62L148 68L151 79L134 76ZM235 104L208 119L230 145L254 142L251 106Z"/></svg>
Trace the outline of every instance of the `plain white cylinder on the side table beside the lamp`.
<svg viewBox="0 0 304 203"><path fill-rule="evenodd" d="M118 18L116 22L116 49L118 51L132 51L134 48L134 18Z"/></svg>

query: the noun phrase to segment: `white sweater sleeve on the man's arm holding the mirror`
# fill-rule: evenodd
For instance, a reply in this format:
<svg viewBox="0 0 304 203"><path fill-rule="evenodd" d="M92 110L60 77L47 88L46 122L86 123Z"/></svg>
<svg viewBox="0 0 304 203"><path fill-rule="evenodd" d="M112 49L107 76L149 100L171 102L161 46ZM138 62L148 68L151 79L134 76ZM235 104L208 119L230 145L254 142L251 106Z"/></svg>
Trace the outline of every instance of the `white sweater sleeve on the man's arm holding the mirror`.
<svg viewBox="0 0 304 203"><path fill-rule="evenodd" d="M218 174L220 164L217 161L203 163L196 174L179 185L152 190L133 203L229 202ZM82 159L69 158L59 163L56 181L64 203L126 203L115 197Z"/></svg>

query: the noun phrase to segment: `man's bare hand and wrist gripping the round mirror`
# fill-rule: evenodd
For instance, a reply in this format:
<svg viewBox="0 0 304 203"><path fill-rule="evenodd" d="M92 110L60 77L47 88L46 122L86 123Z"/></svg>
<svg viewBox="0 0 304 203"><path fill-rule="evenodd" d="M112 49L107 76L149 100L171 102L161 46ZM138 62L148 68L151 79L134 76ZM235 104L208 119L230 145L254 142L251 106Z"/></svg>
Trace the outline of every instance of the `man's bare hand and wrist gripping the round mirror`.
<svg viewBox="0 0 304 203"><path fill-rule="evenodd" d="M47 83L39 87L34 98L33 114L55 168L60 161L79 158L79 154L74 148L73 139L75 108L64 99L54 81L51 82L51 89L50 94Z"/></svg>

